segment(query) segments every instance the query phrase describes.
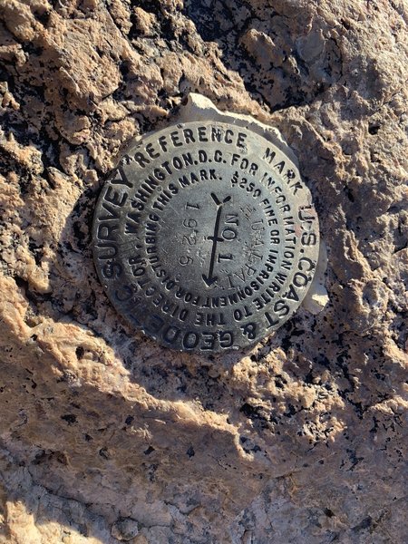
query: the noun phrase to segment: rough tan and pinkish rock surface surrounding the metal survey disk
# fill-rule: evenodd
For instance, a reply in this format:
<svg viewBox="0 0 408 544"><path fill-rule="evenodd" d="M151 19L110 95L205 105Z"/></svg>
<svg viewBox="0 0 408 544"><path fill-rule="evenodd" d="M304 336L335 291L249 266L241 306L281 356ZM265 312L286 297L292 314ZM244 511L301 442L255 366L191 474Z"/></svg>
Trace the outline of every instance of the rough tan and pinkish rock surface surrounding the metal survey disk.
<svg viewBox="0 0 408 544"><path fill-rule="evenodd" d="M408 541L408 4L0 0L0 541ZM189 92L276 126L329 303L212 360L134 335L92 265L132 136Z"/></svg>

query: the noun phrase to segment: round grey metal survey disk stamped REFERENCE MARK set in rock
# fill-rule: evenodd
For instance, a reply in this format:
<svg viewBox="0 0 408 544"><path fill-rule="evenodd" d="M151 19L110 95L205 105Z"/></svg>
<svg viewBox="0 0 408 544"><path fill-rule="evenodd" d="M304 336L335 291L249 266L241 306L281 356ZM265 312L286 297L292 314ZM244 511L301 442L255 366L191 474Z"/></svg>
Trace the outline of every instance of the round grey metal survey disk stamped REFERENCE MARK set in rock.
<svg viewBox="0 0 408 544"><path fill-rule="evenodd" d="M255 343L306 295L318 256L295 164L218 121L142 139L102 188L96 268L113 306L166 345L203 354Z"/></svg>

